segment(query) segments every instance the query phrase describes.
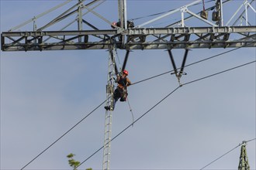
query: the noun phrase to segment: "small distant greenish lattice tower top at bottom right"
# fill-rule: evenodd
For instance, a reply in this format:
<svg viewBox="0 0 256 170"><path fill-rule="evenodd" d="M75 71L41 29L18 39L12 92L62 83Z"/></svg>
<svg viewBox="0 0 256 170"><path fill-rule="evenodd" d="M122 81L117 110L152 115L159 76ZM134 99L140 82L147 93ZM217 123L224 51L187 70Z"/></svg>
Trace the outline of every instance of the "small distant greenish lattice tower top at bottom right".
<svg viewBox="0 0 256 170"><path fill-rule="evenodd" d="M250 170L250 165L249 165L247 151L246 151L246 141L243 141L240 149L238 170Z"/></svg>

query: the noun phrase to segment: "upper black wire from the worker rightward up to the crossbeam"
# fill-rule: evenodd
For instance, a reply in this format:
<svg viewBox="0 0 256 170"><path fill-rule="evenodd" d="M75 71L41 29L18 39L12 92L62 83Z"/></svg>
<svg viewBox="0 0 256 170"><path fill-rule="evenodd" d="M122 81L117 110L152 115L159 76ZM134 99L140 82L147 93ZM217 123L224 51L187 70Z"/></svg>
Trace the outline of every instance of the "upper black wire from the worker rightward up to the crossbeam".
<svg viewBox="0 0 256 170"><path fill-rule="evenodd" d="M217 56L221 56L221 55L223 55L223 54L230 53L230 52L232 52L232 51L234 51L234 50L237 50L237 49L240 49L240 48L244 48L244 47L249 46L249 45L251 45L251 43L249 43L249 44L247 44L247 45L244 45L244 46L237 47L237 48L235 48L235 49L230 49L230 50L228 50L228 51L226 51L226 52L219 53L219 54L216 54L216 55L214 55L214 56L210 56L209 58L206 58L206 59L201 59L201 60L199 60L199 61L196 61L195 63L190 63L190 64L188 64L188 65L185 65L184 67L192 66L192 65L194 65L194 64L196 64L196 63L201 63L201 62L206 61L206 60L208 60L208 59L213 59L213 58L215 58L215 57L217 57ZM180 68L177 68L177 70L178 70L178 69L180 69ZM150 76L150 77L148 77L147 79L137 81L137 82L131 84L130 86L133 86L134 84L137 84L137 83L142 83L142 82L147 81L147 80L150 80L150 79L154 79L154 78L156 78L157 76L163 76L164 74L171 73L171 72L173 72L173 71L175 71L175 70L171 70L171 71L167 71L167 72L164 72L164 73L160 73L160 74L157 74L156 76Z"/></svg>

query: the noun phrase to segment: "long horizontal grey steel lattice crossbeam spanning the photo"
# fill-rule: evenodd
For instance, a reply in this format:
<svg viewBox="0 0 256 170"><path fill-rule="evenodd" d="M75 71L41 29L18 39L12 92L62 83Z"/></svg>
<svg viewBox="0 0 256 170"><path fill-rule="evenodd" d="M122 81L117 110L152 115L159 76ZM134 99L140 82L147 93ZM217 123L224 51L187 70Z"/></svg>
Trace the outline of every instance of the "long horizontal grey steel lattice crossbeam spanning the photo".
<svg viewBox="0 0 256 170"><path fill-rule="evenodd" d="M255 26L2 32L2 51L108 49L194 49L256 46ZM123 44L122 35L127 36Z"/></svg>

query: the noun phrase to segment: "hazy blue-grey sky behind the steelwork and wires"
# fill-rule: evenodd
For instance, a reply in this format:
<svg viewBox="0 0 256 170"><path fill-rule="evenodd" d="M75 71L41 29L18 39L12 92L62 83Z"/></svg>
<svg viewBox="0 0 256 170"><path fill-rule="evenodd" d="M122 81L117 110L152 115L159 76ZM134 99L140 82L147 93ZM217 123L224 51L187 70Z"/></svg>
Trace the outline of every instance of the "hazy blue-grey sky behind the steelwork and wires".
<svg viewBox="0 0 256 170"><path fill-rule="evenodd" d="M60 2L1 0L1 32ZM190 2L128 1L127 15L134 19ZM225 8L224 14L234 12L241 2L230 2L234 4ZM255 3L253 5L255 8ZM107 1L97 8L97 12L106 19L116 20L117 2ZM38 21L38 26L54 16L47 15ZM100 29L109 29L102 20L90 18L94 17L92 15L86 17ZM250 18L255 26L255 14L251 12ZM168 19L152 26L166 25ZM146 20L148 18L134 22L139 25ZM21 30L29 29L32 27ZM192 49L187 63L228 50ZM184 50L176 49L173 53L177 65L181 65ZM118 56L122 63L125 52L118 50ZM187 75L182 76L182 83L251 62L255 57L255 48L244 48L185 67ZM1 169L22 168L106 100L107 63L106 50L1 51ZM126 69L132 82L172 70L168 53L162 49L134 50ZM140 117L176 87L178 81L170 73L131 86L129 100L134 118ZM185 85L112 141L110 167L200 169L242 141L255 138L255 96L255 63ZM25 169L71 169L66 155L74 153L74 158L82 162L101 148L105 121L103 106ZM114 137L132 122L128 104L117 103L112 121ZM247 144L251 169L256 168L255 150L254 140ZM99 151L80 169L101 169L102 155ZM240 147L205 169L237 169L239 156Z"/></svg>

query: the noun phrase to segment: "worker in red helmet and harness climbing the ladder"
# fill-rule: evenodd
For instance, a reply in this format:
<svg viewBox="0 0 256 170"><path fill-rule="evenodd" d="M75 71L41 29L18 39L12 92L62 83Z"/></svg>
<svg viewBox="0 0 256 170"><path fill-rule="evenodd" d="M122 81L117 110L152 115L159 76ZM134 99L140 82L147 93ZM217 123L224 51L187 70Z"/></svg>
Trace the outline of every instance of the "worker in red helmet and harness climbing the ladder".
<svg viewBox="0 0 256 170"><path fill-rule="evenodd" d="M114 91L114 101L113 101L112 110L114 110L116 106L116 101L119 100L119 98L120 98L120 101L126 101L126 98L128 95L127 87L129 87L132 84L127 76L128 76L128 71L123 70L123 74L119 74L116 78L117 87L116 87L116 90ZM106 106L105 109L110 110L110 106Z"/></svg>

